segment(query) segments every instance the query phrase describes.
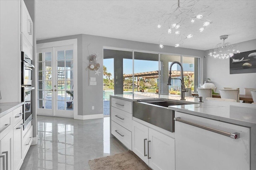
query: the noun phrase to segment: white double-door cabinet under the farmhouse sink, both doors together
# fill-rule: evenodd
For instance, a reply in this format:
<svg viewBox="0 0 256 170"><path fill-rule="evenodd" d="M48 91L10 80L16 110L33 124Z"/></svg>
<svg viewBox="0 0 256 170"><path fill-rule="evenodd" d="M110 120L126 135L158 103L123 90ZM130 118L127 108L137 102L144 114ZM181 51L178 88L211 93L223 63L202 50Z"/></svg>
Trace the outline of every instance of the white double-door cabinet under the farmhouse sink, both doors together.
<svg viewBox="0 0 256 170"><path fill-rule="evenodd" d="M132 151L154 170L175 169L175 141L136 121L132 125Z"/></svg>

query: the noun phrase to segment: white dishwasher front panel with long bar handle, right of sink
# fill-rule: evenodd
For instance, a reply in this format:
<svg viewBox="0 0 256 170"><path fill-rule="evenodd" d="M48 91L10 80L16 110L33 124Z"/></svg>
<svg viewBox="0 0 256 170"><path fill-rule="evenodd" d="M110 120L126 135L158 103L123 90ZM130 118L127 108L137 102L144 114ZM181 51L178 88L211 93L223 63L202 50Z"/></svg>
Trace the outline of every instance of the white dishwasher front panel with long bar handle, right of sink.
<svg viewBox="0 0 256 170"><path fill-rule="evenodd" d="M176 170L250 170L250 129L175 112L175 117L228 133L238 139L175 121Z"/></svg>

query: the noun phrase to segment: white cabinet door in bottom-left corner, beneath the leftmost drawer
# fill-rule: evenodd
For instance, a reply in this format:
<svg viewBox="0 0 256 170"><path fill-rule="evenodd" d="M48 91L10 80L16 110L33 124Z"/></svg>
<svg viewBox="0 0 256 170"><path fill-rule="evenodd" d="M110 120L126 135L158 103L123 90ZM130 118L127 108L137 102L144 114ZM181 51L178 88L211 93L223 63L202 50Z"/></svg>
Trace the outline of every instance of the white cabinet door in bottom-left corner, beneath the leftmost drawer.
<svg viewBox="0 0 256 170"><path fill-rule="evenodd" d="M12 162L12 130L0 141L0 170L13 169Z"/></svg>

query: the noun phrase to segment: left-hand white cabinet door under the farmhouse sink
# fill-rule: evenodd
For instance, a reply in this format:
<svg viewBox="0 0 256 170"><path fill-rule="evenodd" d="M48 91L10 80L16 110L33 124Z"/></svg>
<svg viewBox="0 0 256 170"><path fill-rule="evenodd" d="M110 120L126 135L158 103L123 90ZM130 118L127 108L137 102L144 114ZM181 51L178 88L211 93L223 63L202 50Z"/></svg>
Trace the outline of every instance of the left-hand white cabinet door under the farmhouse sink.
<svg viewBox="0 0 256 170"><path fill-rule="evenodd" d="M148 127L133 121L132 151L148 164Z"/></svg>

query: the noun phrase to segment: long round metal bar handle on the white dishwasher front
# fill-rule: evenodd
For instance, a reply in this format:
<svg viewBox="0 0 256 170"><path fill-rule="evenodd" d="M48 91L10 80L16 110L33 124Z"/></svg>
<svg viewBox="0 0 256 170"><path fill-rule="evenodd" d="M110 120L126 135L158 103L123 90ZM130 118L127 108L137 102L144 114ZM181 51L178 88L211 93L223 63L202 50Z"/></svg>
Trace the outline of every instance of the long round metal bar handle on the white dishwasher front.
<svg viewBox="0 0 256 170"><path fill-rule="evenodd" d="M231 137L232 139L238 139L240 138L240 133L237 133L237 132L234 132L234 133L228 133L228 132L225 132L225 131L221 131L219 129L214 129L212 127L208 127L208 126L204 126L204 125L200 125L200 124L197 124L197 123L194 123L194 122L191 122L191 121L186 121L186 120L182 120L180 119L180 117L174 117L174 120L175 121L180 121L182 123L186 123L188 125L192 125L192 126L195 126L195 127L199 127L201 129L205 129L207 131L211 131L211 132L214 132L214 133L218 133L220 135L224 135L224 136L227 136L227 137Z"/></svg>

